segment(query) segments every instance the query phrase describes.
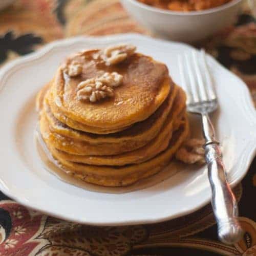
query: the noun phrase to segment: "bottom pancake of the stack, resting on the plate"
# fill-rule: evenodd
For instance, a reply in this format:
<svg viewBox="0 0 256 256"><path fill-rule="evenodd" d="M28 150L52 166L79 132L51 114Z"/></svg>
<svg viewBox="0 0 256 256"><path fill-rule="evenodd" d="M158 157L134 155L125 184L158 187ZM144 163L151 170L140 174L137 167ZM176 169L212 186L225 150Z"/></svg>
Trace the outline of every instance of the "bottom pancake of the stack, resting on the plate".
<svg viewBox="0 0 256 256"><path fill-rule="evenodd" d="M57 150L49 143L47 138L45 143L52 156L59 161L63 172L68 175L102 186L125 186L160 172L186 139L188 132L188 121L185 118L184 123L174 133L165 151L146 162L125 166L88 165L59 159L56 154Z"/></svg>

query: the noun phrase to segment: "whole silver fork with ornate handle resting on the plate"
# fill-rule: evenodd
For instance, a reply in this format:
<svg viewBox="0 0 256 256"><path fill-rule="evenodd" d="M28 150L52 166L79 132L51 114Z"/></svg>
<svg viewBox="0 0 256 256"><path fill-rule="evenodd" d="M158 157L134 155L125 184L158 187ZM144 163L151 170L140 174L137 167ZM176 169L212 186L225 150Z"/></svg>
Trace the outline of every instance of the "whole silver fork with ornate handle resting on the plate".
<svg viewBox="0 0 256 256"><path fill-rule="evenodd" d="M202 117L205 138L205 160L211 186L211 205L218 225L219 239L233 244L243 231L238 221L236 198L226 180L221 148L215 136L209 113L218 108L217 96L207 67L204 50L180 55L178 59L182 86L187 93L187 111Z"/></svg>

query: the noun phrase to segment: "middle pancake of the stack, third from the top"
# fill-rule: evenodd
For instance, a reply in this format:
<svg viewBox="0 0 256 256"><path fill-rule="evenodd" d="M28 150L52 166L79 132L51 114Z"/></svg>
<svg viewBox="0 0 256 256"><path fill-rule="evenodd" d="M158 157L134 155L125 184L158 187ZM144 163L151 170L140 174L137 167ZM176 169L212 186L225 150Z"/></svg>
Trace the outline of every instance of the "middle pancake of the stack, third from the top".
<svg viewBox="0 0 256 256"><path fill-rule="evenodd" d="M173 123L175 125L176 122L179 122L182 116L180 115L180 113L184 108L185 108L185 94L182 89L179 89L179 93L175 99L173 108L170 110L164 125L160 127L161 129L160 132L158 132L155 135L155 137L152 139L152 140L155 139L155 143L152 143L152 146L150 148L147 148L146 152L149 152L149 151L152 152L156 150L156 148L158 148L159 143L161 144L161 148L163 148L163 146L169 141L169 139L167 139L168 136L166 134L171 136L171 133L173 130L172 125ZM141 152L141 153L138 153L138 155L142 154L146 156L146 154L143 154L143 151L145 151L145 148L148 146L148 143L152 142L152 140L151 141L148 140L146 141L146 143L143 143L144 141L140 141L138 143L136 140L130 140L129 143L126 143L125 141L121 141L120 143L104 143L103 142L103 143L92 144L86 141L69 138L67 136L63 136L58 133L52 132L51 125L49 125L49 121L46 117L47 115L44 115L44 117L42 117L42 120L40 121L42 126L41 127L42 134L46 134L46 136L48 136L49 139L51 140L51 143L53 144L53 146L56 147L58 150L67 152L69 154L81 155L81 156L87 155L90 157L93 155L97 155L97 156L120 155L125 152L131 152L131 154L137 155L137 152L135 151L137 150ZM148 119L151 119L151 117ZM140 125L137 125L137 129L140 129ZM166 138L166 140L164 140L165 143L161 142L161 138L162 139ZM140 150L140 148L143 146L144 146L144 149ZM166 146L167 145L165 145L165 147ZM102 164L102 163L99 163L99 164ZM120 162L120 165L122 165L122 162Z"/></svg>

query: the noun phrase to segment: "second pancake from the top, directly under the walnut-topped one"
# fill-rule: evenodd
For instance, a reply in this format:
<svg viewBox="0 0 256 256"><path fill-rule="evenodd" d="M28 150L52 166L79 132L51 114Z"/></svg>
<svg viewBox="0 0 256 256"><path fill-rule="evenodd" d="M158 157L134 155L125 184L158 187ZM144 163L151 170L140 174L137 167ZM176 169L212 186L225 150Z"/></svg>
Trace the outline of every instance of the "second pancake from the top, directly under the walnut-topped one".
<svg viewBox="0 0 256 256"><path fill-rule="evenodd" d="M54 133L86 141L90 144L115 143L116 146L120 145L120 148L121 145L125 144L126 148L135 150L145 145L159 133L172 106L176 105L179 106L179 109L182 109L184 107L182 102L185 102L184 92L179 87L173 86L168 98L152 116L142 122L135 123L127 130L108 135L96 135L71 129L53 116L50 106L47 104L47 98L45 99L44 109L51 131Z"/></svg>

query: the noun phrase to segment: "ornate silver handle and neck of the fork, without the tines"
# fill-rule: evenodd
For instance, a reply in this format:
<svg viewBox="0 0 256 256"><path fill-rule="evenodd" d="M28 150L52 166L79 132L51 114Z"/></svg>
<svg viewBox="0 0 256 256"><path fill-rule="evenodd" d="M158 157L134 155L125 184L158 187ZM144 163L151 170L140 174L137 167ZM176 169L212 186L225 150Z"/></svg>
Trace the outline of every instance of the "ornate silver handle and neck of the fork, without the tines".
<svg viewBox="0 0 256 256"><path fill-rule="evenodd" d="M205 160L212 191L211 204L218 225L219 238L224 243L233 244L240 240L243 234L238 221L237 201L226 180L225 166L214 126L207 113L202 113L201 116L205 137Z"/></svg>

